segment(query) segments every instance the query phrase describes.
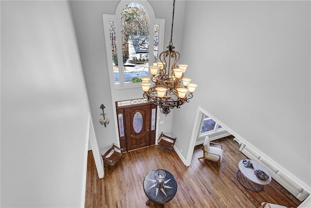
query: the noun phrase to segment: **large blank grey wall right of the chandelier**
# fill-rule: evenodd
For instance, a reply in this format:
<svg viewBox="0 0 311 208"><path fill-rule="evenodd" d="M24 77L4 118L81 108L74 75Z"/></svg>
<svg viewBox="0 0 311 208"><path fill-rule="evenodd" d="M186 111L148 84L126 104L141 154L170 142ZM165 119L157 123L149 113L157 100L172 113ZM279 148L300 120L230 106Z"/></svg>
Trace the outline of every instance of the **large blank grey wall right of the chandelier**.
<svg viewBox="0 0 311 208"><path fill-rule="evenodd" d="M310 1L185 8L181 59L199 87L173 114L178 150L188 149L201 106L310 186Z"/></svg>

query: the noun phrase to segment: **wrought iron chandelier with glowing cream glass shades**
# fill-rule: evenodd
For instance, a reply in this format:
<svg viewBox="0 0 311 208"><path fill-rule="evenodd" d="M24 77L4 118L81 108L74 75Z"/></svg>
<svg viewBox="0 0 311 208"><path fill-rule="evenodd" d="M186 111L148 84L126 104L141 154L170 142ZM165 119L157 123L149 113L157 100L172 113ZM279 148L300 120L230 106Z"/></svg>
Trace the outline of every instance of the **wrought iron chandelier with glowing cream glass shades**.
<svg viewBox="0 0 311 208"><path fill-rule="evenodd" d="M160 62L157 62L156 66L149 66L150 73L152 75L151 80L154 85L150 87L152 83L149 82L149 77L141 77L143 96L148 101L158 105L160 112L167 115L174 107L180 108L189 99L193 97L193 92L198 86L197 84L190 83L190 78L184 78L184 73L187 69L186 64L177 64L180 54L174 51L173 46L173 23L174 23L174 10L175 0L173 1L173 18L172 18L172 30L171 41L168 50L160 54ZM159 73L158 73L159 71ZM183 86L180 86L183 82Z"/></svg>

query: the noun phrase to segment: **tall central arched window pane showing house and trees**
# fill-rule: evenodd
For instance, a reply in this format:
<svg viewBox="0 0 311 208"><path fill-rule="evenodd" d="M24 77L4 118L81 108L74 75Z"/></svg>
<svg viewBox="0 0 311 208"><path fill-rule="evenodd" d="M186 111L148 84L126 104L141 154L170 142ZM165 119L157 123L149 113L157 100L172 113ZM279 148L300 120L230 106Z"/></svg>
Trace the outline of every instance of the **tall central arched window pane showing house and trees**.
<svg viewBox="0 0 311 208"><path fill-rule="evenodd" d="M121 13L124 83L141 82L148 76L149 15L138 3L127 4Z"/></svg>

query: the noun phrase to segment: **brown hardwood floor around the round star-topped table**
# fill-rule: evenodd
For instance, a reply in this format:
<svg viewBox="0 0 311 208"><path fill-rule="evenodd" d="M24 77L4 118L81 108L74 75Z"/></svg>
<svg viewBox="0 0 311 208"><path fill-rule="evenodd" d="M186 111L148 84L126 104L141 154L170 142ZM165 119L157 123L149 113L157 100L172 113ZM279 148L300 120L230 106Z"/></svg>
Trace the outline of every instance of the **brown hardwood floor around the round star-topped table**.
<svg viewBox="0 0 311 208"><path fill-rule="evenodd" d="M214 142L223 145L224 158L220 167L213 161L198 160L202 145L194 148L190 167L186 167L175 151L156 151L152 146L123 154L112 170L104 170L99 179L92 151L88 152L86 173L86 208L143 208L147 197L143 190L144 177L151 170L170 171L178 183L175 197L164 205L167 208L258 208L261 202L296 208L301 203L274 179L259 192L242 187L236 178L238 163L246 158L239 151L233 136ZM155 203L150 208L161 207Z"/></svg>

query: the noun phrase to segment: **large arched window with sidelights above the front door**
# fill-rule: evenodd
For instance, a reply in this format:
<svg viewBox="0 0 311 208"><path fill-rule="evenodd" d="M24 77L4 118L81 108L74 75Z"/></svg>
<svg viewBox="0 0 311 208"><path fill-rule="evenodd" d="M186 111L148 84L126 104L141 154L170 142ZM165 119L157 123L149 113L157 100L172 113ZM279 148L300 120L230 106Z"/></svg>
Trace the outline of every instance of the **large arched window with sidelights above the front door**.
<svg viewBox="0 0 311 208"><path fill-rule="evenodd" d="M103 14L104 37L111 86L141 87L163 49L164 19L155 19L147 1L121 1L115 15Z"/></svg>

